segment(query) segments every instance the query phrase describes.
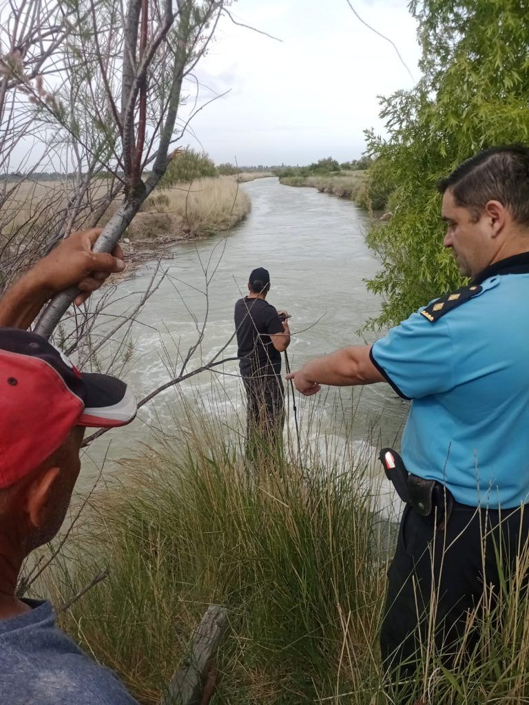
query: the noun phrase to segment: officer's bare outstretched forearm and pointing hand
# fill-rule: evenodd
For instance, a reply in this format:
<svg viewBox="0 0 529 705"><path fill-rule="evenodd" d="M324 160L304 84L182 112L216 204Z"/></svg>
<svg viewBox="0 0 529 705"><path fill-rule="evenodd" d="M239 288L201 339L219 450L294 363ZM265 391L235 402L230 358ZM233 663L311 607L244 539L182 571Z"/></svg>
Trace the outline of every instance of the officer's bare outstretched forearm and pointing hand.
<svg viewBox="0 0 529 705"><path fill-rule="evenodd" d="M320 391L322 384L351 386L386 381L370 360L370 345L351 345L336 353L317 357L286 379L293 379L296 389L305 396Z"/></svg>

